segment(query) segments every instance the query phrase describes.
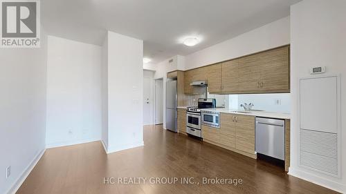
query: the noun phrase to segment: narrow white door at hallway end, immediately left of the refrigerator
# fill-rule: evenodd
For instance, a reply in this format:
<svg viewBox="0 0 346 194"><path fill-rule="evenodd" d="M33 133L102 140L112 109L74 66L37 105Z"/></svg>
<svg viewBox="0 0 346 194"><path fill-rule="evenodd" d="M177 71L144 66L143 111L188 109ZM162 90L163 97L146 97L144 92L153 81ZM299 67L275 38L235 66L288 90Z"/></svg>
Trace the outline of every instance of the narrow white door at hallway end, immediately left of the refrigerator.
<svg viewBox="0 0 346 194"><path fill-rule="evenodd" d="M163 79L155 80L155 124L163 124Z"/></svg>

